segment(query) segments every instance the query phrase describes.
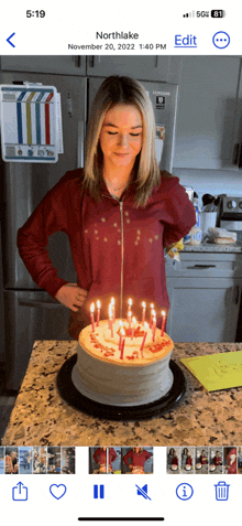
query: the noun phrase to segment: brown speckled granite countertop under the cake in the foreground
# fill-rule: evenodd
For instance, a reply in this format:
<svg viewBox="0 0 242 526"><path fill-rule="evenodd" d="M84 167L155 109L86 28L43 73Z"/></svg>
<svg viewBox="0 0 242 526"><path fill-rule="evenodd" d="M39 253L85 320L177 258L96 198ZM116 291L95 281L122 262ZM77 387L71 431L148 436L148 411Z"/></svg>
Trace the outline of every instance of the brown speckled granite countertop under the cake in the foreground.
<svg viewBox="0 0 242 526"><path fill-rule="evenodd" d="M2 446L238 446L242 444L242 387L208 393L179 358L242 351L241 343L176 343L173 358L187 379L187 393L166 415L144 421L88 416L59 396L56 377L76 353L77 342L34 343Z"/></svg>

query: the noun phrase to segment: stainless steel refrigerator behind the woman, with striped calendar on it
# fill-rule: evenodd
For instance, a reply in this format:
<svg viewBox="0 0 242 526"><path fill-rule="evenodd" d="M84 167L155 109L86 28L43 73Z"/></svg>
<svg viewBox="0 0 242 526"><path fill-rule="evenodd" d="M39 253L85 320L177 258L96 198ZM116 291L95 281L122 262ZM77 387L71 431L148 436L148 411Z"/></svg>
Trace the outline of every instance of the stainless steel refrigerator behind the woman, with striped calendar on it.
<svg viewBox="0 0 242 526"><path fill-rule="evenodd" d="M32 280L18 254L16 232L66 171L84 165L88 112L102 78L13 72L0 74L0 84L26 80L55 86L61 93L64 153L59 154L55 164L1 161L0 362L6 361L9 389L19 389L34 341L70 339L67 333L68 309L40 290ZM142 84L155 110L161 168L170 171L177 86L151 82ZM164 144L162 149L160 144ZM76 282L67 236L64 233L54 234L47 248L58 276Z"/></svg>

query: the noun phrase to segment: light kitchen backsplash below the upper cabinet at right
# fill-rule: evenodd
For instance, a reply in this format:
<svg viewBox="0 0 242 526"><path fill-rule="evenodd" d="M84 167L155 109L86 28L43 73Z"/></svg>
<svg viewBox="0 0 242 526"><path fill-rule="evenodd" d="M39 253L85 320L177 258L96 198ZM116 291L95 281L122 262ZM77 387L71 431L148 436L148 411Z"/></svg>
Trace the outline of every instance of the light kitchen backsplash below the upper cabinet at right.
<svg viewBox="0 0 242 526"><path fill-rule="evenodd" d="M188 170L174 168L173 175L179 178L180 184L193 186L201 203L206 193L231 196L242 195L242 170Z"/></svg>

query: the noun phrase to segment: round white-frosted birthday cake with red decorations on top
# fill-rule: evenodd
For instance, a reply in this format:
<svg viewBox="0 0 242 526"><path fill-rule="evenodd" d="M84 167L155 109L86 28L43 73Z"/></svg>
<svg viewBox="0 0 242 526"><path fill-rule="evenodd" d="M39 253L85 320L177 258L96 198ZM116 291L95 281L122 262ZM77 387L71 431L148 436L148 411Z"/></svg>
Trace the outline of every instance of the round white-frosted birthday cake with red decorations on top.
<svg viewBox="0 0 242 526"><path fill-rule="evenodd" d="M163 335L162 335L163 334ZM158 328L127 320L100 321L79 334L73 383L86 397L112 406L138 406L165 396L173 385L174 344Z"/></svg>

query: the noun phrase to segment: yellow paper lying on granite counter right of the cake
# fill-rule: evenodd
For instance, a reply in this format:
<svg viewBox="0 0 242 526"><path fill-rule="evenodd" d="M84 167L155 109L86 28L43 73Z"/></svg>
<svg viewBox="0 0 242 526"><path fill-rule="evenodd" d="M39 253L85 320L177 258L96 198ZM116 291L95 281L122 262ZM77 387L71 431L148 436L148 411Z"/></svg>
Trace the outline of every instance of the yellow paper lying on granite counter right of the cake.
<svg viewBox="0 0 242 526"><path fill-rule="evenodd" d="M195 356L180 362L209 391L242 386L242 351Z"/></svg>

